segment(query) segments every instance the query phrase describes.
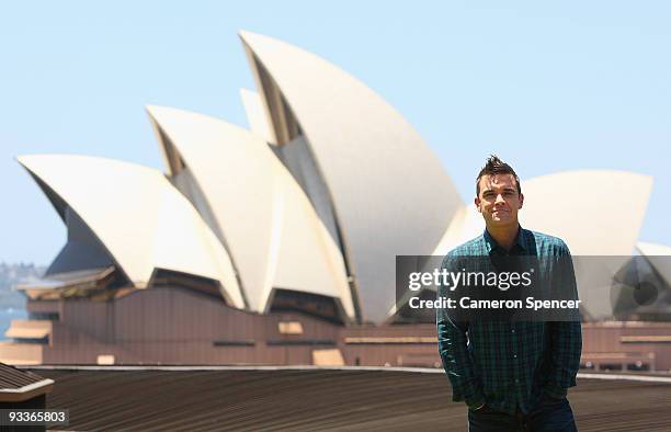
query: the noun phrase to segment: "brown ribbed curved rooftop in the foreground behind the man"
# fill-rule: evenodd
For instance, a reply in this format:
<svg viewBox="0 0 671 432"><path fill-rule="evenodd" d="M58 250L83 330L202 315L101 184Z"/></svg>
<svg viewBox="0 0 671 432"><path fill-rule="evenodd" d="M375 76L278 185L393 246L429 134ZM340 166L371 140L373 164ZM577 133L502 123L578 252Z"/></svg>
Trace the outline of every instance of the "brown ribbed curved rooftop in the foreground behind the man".
<svg viewBox="0 0 671 432"><path fill-rule="evenodd" d="M47 408L69 409L69 430L466 430L465 406L451 401L442 373L217 367L35 371L56 380ZM671 379L642 379L650 380L580 378L569 393L579 430L669 431Z"/></svg>

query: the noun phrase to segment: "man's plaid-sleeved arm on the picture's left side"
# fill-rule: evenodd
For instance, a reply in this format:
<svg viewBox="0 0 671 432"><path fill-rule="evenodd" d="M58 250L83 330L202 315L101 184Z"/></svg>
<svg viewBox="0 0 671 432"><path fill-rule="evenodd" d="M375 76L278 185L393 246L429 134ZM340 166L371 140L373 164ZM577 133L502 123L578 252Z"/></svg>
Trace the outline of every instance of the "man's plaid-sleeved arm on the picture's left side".
<svg viewBox="0 0 671 432"><path fill-rule="evenodd" d="M445 257L443 269L451 271L450 257ZM450 288L439 285L437 297L448 297ZM485 405L480 382L475 375L473 362L468 354L466 332L467 322L453 321L447 310L436 310L439 352L443 368L452 383L452 399L466 401L469 408L478 409Z"/></svg>

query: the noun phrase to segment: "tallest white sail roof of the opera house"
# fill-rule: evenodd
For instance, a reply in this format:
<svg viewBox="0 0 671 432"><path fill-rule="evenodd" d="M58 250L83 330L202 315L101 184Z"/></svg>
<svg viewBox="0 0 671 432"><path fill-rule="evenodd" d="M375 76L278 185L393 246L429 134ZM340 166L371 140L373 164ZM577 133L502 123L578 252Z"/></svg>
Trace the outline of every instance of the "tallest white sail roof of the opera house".
<svg viewBox="0 0 671 432"><path fill-rule="evenodd" d="M240 36L274 143L304 134L328 185L365 320L395 303L395 255L430 254L460 200L413 127L362 82L289 44Z"/></svg>

